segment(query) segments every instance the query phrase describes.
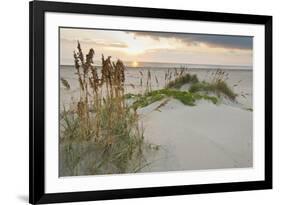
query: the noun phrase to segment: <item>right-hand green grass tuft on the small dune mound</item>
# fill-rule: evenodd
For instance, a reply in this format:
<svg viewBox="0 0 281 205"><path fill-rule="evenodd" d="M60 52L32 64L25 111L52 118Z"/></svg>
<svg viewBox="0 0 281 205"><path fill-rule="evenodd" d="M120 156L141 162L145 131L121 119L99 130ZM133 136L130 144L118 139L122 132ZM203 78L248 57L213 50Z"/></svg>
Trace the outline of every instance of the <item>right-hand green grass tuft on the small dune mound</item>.
<svg viewBox="0 0 281 205"><path fill-rule="evenodd" d="M212 92L218 97L226 96L232 101L234 101L237 96L237 94L233 92L233 90L226 84L225 81L217 81L214 83L197 82L190 86L189 91L191 93Z"/></svg>

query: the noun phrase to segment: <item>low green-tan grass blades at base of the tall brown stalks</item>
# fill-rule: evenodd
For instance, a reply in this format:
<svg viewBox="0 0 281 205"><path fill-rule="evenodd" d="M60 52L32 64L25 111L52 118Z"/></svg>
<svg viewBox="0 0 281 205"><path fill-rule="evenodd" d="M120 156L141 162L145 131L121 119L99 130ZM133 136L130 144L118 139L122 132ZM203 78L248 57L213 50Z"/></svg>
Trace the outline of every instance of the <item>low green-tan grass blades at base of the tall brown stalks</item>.
<svg viewBox="0 0 281 205"><path fill-rule="evenodd" d="M147 163L143 153L149 148L144 142L142 129L135 124L135 115L128 113L126 119L119 119L109 127L109 117L101 111L101 132L111 135L100 140L85 140L84 126L75 113L62 114L62 122L67 124L63 129L60 141L60 176L118 174L135 172ZM123 116L123 117L125 117ZM89 132L94 133L94 130ZM109 137L112 136L112 137Z"/></svg>

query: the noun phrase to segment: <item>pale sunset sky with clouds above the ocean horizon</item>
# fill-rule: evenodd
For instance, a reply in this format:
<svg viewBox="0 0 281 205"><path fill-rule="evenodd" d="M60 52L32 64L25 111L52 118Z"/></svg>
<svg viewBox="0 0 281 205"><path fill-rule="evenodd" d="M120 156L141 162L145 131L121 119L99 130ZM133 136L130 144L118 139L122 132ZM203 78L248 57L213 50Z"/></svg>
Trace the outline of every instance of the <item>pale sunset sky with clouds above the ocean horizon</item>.
<svg viewBox="0 0 281 205"><path fill-rule="evenodd" d="M73 64L77 41L95 51L137 66L139 62L252 66L249 36L60 28L61 65Z"/></svg>

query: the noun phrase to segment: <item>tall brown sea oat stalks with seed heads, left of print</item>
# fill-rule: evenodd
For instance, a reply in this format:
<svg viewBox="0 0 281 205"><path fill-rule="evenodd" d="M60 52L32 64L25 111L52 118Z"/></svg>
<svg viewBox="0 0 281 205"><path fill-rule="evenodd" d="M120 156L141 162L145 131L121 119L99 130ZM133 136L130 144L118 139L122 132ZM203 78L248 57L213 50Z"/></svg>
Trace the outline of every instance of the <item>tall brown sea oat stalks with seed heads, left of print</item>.
<svg viewBox="0 0 281 205"><path fill-rule="evenodd" d="M110 136L114 127L114 120L122 118L126 114L124 101L125 66L121 60L116 63L111 61L111 57L106 59L102 55L101 72L98 73L94 66L94 50L90 49L88 54L83 54L81 45L78 42L77 51L74 51L74 65L80 86L80 98L77 103L76 113L81 120L83 136L87 139L98 140ZM66 88L70 88L68 82L62 79ZM104 107L108 108L108 124L102 127L102 113ZM94 111L94 114L91 114ZM112 139L109 140L110 142Z"/></svg>

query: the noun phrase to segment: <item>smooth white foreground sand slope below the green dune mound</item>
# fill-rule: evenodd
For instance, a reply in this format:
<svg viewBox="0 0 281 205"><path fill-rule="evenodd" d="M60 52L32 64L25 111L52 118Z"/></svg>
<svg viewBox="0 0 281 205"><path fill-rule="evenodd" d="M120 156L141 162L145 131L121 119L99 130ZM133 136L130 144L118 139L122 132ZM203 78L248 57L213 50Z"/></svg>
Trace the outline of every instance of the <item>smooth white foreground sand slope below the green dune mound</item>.
<svg viewBox="0 0 281 205"><path fill-rule="evenodd" d="M186 106L171 99L139 111L148 142L160 150L143 171L242 168L252 166L252 112L200 101Z"/></svg>

